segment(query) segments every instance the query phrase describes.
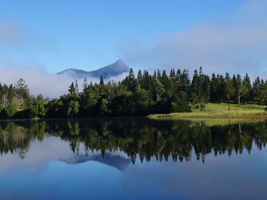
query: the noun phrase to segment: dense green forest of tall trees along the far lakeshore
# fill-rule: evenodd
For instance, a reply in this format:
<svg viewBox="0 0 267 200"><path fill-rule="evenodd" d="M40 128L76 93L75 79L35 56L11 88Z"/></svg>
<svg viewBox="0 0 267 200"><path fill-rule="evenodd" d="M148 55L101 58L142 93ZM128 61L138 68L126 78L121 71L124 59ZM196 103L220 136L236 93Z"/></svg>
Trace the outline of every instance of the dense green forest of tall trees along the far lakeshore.
<svg viewBox="0 0 267 200"><path fill-rule="evenodd" d="M137 77L130 69L119 82L104 84L101 75L100 82L93 84L85 77L82 91L76 80L68 94L58 99L30 94L22 78L14 85L0 83L0 119L146 116L194 109L205 112L209 102L227 102L229 110L230 104L266 106L267 80L257 77L251 85L248 73L243 79L239 74L230 77L229 73L213 73L210 78L203 74L202 67L194 70L192 81L186 69L172 69L169 76L166 70L152 75L139 70Z"/></svg>

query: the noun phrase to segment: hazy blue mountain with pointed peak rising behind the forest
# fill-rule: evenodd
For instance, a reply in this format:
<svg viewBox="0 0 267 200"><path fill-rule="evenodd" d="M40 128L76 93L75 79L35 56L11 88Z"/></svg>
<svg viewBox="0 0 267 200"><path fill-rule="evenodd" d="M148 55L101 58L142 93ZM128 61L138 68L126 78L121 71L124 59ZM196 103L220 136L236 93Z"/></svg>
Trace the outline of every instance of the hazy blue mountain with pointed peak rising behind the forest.
<svg viewBox="0 0 267 200"><path fill-rule="evenodd" d="M120 59L117 62L108 65L106 67L97 69L95 71L84 71L81 69L66 69L62 72L58 72L57 74L67 74L73 77L74 79L83 78L83 77L97 77L100 78L103 75L103 78L108 78L112 76L117 76L124 72L129 72L129 67L125 65L125 63Z"/></svg>

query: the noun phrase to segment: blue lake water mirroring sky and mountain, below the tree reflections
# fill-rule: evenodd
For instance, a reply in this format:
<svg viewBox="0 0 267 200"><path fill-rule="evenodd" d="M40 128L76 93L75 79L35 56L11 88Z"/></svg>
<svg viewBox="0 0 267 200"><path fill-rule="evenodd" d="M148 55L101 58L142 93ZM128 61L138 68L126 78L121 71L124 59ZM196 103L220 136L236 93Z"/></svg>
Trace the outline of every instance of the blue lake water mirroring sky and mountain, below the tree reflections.
<svg viewBox="0 0 267 200"><path fill-rule="evenodd" d="M266 130L262 135L266 137ZM251 149L244 148L241 154L215 156L212 149L205 162L197 160L193 146L189 161L174 162L169 155L168 161L153 156L141 162L137 154L134 164L123 150L105 149L103 158L101 150L88 152L84 144L76 141L73 152L66 138L45 135L30 140L23 159L18 151L2 153L0 199L264 199L267 195L267 148L258 148L254 140Z"/></svg>

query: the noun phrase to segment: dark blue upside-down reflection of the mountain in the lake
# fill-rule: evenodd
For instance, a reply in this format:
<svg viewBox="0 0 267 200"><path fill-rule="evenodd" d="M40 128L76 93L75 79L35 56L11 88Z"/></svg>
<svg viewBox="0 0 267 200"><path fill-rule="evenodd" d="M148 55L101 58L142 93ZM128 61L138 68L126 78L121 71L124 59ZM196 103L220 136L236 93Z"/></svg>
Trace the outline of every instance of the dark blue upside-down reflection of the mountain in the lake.
<svg viewBox="0 0 267 200"><path fill-rule="evenodd" d="M96 154L96 155L73 155L69 159L60 160L62 162L65 162L67 164L79 164L84 163L87 161L98 161L100 163L115 167L122 172L130 165L131 159L124 158L120 155L113 155L112 153L105 152L105 156L103 158L102 154Z"/></svg>

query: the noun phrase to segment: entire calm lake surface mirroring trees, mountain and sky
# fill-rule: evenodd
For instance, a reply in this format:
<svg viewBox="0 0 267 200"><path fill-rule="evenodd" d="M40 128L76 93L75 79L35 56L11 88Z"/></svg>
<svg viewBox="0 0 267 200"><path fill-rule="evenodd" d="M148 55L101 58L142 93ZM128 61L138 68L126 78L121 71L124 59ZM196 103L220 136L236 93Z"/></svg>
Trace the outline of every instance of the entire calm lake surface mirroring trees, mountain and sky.
<svg viewBox="0 0 267 200"><path fill-rule="evenodd" d="M0 199L265 199L266 120L0 121Z"/></svg>

